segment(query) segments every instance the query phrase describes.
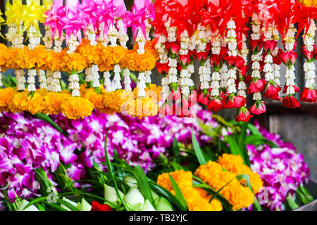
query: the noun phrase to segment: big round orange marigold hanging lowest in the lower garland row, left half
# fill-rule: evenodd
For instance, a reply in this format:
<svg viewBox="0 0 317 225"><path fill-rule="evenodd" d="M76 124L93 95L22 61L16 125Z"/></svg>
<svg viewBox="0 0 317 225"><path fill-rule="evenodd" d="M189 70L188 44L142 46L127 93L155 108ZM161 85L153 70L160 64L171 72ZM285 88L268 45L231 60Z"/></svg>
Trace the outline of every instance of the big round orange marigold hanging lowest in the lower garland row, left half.
<svg viewBox="0 0 317 225"><path fill-rule="evenodd" d="M71 120L77 120L92 114L94 105L86 98L73 97L67 98L61 103L61 111Z"/></svg>

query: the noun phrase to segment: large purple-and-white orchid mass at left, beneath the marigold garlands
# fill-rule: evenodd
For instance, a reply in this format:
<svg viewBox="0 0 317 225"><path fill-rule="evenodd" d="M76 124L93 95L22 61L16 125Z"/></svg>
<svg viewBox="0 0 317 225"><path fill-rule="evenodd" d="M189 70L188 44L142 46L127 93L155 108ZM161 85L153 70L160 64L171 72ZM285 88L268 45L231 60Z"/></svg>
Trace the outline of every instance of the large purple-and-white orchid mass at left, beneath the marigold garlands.
<svg viewBox="0 0 317 225"><path fill-rule="evenodd" d="M110 157L116 149L120 158L146 172L154 167L154 160L161 153L166 153L174 137L182 143L191 143L194 129L201 144L211 140L201 134L197 123L185 123L176 116L138 119L95 111L82 120L68 120L62 114L51 118L68 132L67 137L25 113L0 113L0 199L4 198L4 192L8 198L15 198L15 193L22 198L38 196L35 169L39 167L54 186L57 185L54 172L61 163L68 165L66 172L74 181L85 178L87 167L94 162L105 162L106 134ZM206 111L199 111L197 119L217 125Z"/></svg>

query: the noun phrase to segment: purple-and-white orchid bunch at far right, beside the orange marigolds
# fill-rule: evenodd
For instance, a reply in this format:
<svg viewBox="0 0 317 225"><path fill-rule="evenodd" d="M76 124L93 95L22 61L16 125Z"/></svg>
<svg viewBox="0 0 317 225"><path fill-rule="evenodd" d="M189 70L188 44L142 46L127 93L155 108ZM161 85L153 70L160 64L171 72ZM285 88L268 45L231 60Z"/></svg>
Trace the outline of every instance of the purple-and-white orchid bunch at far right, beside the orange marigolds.
<svg viewBox="0 0 317 225"><path fill-rule="evenodd" d="M282 141L280 135L271 134L257 123L256 128L264 138L278 146L247 146L251 169L260 174L264 182L263 190L257 197L262 207L283 210L282 203L287 195L294 195L300 185L309 181L309 167L303 155L296 153L292 143Z"/></svg>

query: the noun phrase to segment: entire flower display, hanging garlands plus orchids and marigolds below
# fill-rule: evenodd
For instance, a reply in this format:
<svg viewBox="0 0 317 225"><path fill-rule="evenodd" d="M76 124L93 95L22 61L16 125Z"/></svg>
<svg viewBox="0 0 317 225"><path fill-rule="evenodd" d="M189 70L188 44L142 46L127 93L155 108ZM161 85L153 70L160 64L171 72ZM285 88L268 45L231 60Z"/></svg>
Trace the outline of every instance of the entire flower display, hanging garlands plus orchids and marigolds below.
<svg viewBox="0 0 317 225"><path fill-rule="evenodd" d="M0 210L261 211L313 201L303 155L248 123L266 113L265 98L299 108L300 92L316 103L313 1L13 0L4 13L0 72L14 76L0 76ZM235 120L211 113L228 108Z"/></svg>

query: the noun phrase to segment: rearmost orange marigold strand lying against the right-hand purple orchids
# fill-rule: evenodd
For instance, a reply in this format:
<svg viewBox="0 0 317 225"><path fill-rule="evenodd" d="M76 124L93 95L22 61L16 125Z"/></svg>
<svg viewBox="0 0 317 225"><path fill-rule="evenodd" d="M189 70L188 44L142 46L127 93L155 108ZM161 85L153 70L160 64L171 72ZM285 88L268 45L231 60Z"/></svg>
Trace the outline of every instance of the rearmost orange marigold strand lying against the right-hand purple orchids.
<svg viewBox="0 0 317 225"><path fill-rule="evenodd" d="M232 172L235 175L247 174L251 183L254 193L259 193L263 187L263 181L259 174L251 171L251 168L243 164L243 159L240 155L223 154L217 161L224 169ZM242 184L245 184L246 180L240 180Z"/></svg>

